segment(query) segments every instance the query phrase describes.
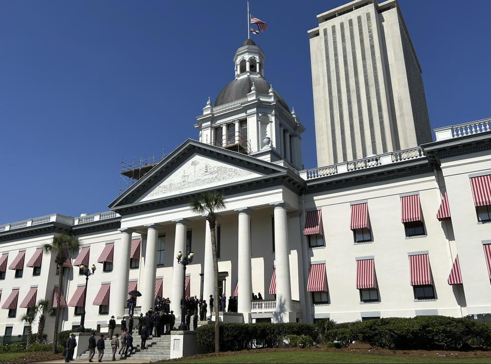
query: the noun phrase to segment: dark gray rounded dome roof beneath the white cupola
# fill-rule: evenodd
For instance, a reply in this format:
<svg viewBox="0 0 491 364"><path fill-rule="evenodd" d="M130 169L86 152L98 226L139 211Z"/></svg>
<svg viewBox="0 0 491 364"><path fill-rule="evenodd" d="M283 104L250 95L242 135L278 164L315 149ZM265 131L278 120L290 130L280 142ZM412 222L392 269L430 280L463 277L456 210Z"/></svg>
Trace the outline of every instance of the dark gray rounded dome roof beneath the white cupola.
<svg viewBox="0 0 491 364"><path fill-rule="evenodd" d="M253 82L254 86L256 86L256 92L258 94L268 93L270 89L270 84L267 83L265 78L252 76L241 77L237 80L233 80L227 86L222 88L222 90L216 97L214 106L228 104L229 102L244 98L245 96L247 96L247 94L251 92ZM278 100L278 103L285 109L289 110L289 107L286 104L285 100L283 100L283 98L276 91L275 96Z"/></svg>

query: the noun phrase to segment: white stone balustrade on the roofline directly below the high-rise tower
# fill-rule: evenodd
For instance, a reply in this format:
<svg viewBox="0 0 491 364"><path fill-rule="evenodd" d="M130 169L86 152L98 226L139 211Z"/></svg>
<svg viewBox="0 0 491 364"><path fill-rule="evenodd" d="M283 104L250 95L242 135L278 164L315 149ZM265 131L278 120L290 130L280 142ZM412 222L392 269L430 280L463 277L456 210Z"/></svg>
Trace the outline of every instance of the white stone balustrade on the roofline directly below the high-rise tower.
<svg viewBox="0 0 491 364"><path fill-rule="evenodd" d="M392 163L398 163L423 157L425 157L425 153L423 153L423 150L420 147L416 147L405 150L398 150L396 152L373 155L359 160L338 163L331 166L307 169L300 171L299 174L300 177L302 177L303 179L314 179L329 175L357 171L361 169L373 168L376 166L390 165Z"/></svg>

